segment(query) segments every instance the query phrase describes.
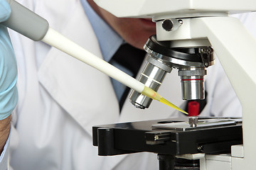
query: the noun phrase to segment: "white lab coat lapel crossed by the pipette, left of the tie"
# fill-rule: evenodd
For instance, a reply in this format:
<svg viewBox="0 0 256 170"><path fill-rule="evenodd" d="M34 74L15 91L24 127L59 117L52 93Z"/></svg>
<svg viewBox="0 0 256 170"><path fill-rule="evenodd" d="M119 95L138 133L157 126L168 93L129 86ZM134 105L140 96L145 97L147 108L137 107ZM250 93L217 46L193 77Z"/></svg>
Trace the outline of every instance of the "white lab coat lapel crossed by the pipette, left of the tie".
<svg viewBox="0 0 256 170"><path fill-rule="evenodd" d="M73 2L70 1L70 5L71 3ZM101 57L97 39L80 1L76 3L77 6L73 6L73 11L65 11L63 18L60 17L63 21L68 18L61 33ZM68 15L70 13L73 16ZM58 28L53 22L52 25L52 28ZM93 125L117 121L118 103L110 78L105 74L51 48L41 64L38 75L39 81L48 93L90 135Z"/></svg>

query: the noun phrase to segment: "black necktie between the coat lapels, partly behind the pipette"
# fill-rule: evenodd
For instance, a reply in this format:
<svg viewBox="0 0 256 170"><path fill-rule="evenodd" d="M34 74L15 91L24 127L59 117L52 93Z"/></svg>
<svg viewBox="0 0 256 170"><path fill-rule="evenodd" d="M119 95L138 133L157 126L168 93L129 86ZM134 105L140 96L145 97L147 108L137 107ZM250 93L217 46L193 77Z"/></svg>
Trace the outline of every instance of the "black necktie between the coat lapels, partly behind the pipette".
<svg viewBox="0 0 256 170"><path fill-rule="evenodd" d="M125 70L128 70L130 75L132 74L132 77L136 77L145 55L146 52L144 50L139 50L135 47L132 47L132 45L124 44L119 47L117 52L110 60L110 63L118 63L125 68L123 70L124 72L126 72ZM116 80L112 80L113 83L114 81ZM119 98L119 110L121 112L124 101L129 94L129 88L126 87L123 91L119 91L119 93L122 93L121 98Z"/></svg>

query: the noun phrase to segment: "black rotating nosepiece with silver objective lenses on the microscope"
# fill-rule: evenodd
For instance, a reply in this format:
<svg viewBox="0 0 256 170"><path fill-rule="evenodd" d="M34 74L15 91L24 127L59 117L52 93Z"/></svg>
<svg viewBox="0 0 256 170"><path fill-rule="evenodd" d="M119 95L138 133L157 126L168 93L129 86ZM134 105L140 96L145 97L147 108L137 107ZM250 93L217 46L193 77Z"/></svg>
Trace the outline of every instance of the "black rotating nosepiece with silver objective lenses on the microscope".
<svg viewBox="0 0 256 170"><path fill-rule="evenodd" d="M178 69L181 77L183 100L204 99L204 76L206 68L214 64L212 47L173 47L171 41L158 41L152 35L144 45L148 53L146 65L140 74L139 81L157 91L166 73L173 68ZM137 108L149 108L152 101L136 91L129 96L131 103Z"/></svg>

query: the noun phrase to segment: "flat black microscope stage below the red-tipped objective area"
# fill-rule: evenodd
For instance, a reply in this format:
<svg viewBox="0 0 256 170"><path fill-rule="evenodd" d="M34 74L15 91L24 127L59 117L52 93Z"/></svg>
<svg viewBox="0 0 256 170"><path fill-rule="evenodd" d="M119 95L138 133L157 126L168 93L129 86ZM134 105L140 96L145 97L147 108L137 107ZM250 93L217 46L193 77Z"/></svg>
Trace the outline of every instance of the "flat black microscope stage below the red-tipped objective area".
<svg viewBox="0 0 256 170"><path fill-rule="evenodd" d="M242 144L240 118L177 118L92 127L93 145L102 156L154 152L157 154L230 153Z"/></svg>

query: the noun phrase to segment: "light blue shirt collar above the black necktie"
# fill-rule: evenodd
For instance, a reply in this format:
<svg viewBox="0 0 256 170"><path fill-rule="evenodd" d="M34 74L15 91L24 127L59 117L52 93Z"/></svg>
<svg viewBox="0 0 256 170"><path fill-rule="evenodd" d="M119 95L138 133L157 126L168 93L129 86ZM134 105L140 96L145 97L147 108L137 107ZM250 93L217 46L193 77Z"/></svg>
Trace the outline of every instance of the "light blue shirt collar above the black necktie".
<svg viewBox="0 0 256 170"><path fill-rule="evenodd" d="M112 56L122 45L124 40L92 9L87 0L80 0L85 14L88 17L95 35L100 44L102 57L106 62L110 62Z"/></svg>

